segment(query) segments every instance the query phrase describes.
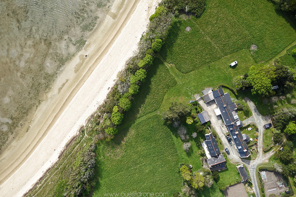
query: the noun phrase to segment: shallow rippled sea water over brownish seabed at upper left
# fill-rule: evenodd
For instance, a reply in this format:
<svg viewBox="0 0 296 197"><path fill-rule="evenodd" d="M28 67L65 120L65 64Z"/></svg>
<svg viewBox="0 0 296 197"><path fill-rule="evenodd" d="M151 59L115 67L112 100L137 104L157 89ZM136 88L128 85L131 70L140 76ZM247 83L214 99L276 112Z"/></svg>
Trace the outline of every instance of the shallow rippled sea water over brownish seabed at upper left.
<svg viewBox="0 0 296 197"><path fill-rule="evenodd" d="M28 122L109 0L0 0L0 148Z"/></svg>

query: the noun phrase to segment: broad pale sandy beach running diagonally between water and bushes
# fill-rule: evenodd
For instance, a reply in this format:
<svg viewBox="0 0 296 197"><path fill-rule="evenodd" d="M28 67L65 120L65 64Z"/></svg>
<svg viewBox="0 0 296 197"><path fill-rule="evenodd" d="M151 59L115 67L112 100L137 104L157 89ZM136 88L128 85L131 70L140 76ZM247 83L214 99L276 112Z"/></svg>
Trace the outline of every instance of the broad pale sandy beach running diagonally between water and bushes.
<svg viewBox="0 0 296 197"><path fill-rule="evenodd" d="M160 0L116 0L104 24L59 72L30 129L0 158L0 196L22 196L102 104Z"/></svg>

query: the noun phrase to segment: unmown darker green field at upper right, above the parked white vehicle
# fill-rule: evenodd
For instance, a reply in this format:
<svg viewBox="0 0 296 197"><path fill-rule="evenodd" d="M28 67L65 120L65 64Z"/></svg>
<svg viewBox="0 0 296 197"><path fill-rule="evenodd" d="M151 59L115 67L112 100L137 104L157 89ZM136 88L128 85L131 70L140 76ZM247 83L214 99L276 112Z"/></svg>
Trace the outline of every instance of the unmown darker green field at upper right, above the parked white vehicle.
<svg viewBox="0 0 296 197"><path fill-rule="evenodd" d="M252 51L255 62L265 62L295 40L295 30L283 15L271 1L208 1L200 18L177 19L160 53L183 73L249 50L252 44L257 46ZM191 31L185 31L187 26Z"/></svg>

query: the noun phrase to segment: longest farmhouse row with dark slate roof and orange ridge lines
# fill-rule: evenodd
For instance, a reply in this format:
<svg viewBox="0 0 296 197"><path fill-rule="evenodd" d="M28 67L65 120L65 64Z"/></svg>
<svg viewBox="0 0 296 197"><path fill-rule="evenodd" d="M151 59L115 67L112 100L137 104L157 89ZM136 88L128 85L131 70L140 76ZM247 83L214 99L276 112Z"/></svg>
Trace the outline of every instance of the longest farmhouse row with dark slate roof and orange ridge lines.
<svg viewBox="0 0 296 197"><path fill-rule="evenodd" d="M213 91L213 96L219 109L214 110L215 114L221 114L239 156L242 158L250 156L247 143L244 141L242 133L239 130L239 127L242 126L242 122L239 120L236 112L237 108L234 102L231 101L229 93L224 94L223 89L219 88L218 90Z"/></svg>

